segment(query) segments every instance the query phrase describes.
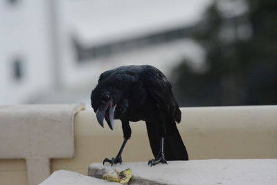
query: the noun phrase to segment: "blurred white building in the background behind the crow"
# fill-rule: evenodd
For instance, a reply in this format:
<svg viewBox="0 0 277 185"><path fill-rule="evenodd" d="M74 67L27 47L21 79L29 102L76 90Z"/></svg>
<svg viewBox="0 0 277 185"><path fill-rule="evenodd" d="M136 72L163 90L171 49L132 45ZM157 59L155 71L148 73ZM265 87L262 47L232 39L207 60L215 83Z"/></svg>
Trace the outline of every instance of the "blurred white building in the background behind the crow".
<svg viewBox="0 0 277 185"><path fill-rule="evenodd" d="M202 49L185 37L209 2L1 1L0 103L89 103L107 69L167 74L181 58L199 62Z"/></svg>

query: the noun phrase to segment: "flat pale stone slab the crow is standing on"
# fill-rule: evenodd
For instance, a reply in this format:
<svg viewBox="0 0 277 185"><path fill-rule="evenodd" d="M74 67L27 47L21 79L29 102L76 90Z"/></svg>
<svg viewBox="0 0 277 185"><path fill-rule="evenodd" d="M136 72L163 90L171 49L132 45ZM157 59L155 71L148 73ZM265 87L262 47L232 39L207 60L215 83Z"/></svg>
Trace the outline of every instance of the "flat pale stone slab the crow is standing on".
<svg viewBox="0 0 277 185"><path fill-rule="evenodd" d="M148 166L146 162L91 164L89 176L100 177L111 168L131 168L129 184L277 184L277 159L211 159L168 161Z"/></svg>

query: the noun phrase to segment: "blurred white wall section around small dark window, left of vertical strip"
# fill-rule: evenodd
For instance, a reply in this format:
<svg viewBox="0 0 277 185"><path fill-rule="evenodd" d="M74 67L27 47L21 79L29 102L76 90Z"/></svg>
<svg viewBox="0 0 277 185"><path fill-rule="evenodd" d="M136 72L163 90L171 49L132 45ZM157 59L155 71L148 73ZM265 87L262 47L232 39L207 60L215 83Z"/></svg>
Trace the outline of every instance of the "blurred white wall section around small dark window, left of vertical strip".
<svg viewBox="0 0 277 185"><path fill-rule="evenodd" d="M51 85L47 7L47 0L0 1L0 104L24 103ZM19 81L12 77L16 57L22 60Z"/></svg>

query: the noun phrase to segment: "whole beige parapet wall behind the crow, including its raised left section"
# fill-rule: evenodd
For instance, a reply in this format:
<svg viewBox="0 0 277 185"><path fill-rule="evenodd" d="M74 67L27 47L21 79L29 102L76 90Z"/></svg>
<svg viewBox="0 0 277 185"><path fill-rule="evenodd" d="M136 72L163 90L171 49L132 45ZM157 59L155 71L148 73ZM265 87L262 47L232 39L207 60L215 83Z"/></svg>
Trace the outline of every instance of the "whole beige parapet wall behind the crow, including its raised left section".
<svg viewBox="0 0 277 185"><path fill-rule="evenodd" d="M92 109L80 111L71 109L71 105L28 105L0 106L0 184L27 185L27 172L30 166L35 165L33 171L48 174L48 157L51 156L51 172L55 170L71 170L84 175L87 174L87 165L102 161L105 157L114 157L123 141L120 121L115 122L114 131L99 126ZM21 110L19 110L21 109ZM74 110L66 116L66 112ZM8 114L6 114L9 112ZM178 124L179 132L186 143L190 159L274 159L277 158L277 105L271 106L239 106L239 107L186 107L181 108L182 120ZM35 116L30 116L30 115ZM73 115L75 115L73 117ZM45 130L38 130L42 125L42 117L48 121L57 121L57 118L69 118L70 125L48 124ZM7 118L9 121L7 121ZM17 121L24 121L26 126L17 125ZM73 122L75 135L75 156L64 159L61 155L50 155L48 144L53 146L53 152L65 152L64 146L73 146ZM24 124L25 124L24 123ZM28 123L28 124L27 124ZM33 130L28 130L28 127ZM46 126L46 124L45 124ZM61 134L56 134L60 127ZM145 123L131 123L132 139L123 152L123 162L146 161L152 157ZM41 127L42 128L42 127ZM18 134L12 130L19 130ZM27 132L29 131L29 132ZM57 132L55 132L57 131ZM66 139L64 132L71 135ZM12 134L17 139L11 140ZM25 138L23 137L25 134ZM60 136L60 143L45 140L42 134L48 134L50 139ZM30 140L28 137L30 136ZM20 142L18 142L20 141ZM26 145L25 141L30 141ZM45 142L44 142L45 141ZM57 140L56 140L57 141ZM61 145L61 143L66 144ZM38 143L45 144L44 146ZM59 145L59 146L57 146ZM22 148L31 150L21 150ZM37 148L36 148L37 147ZM68 151L68 156L74 152ZM141 150L143 148L143 150ZM8 152L9 151L9 152ZM18 151L18 152L17 152ZM11 155L9 155L10 153ZM26 156L32 155L30 158ZM44 158L46 157L46 158ZM27 163L25 160L27 159ZM38 166L42 166L42 168ZM39 168L39 170L35 170ZM47 168L47 169L46 169ZM34 174L34 173L33 173ZM15 178L17 177L17 178ZM39 177L39 175L33 175ZM46 177L46 176L44 176ZM37 178L37 179L38 179ZM42 182L42 180L40 181Z"/></svg>

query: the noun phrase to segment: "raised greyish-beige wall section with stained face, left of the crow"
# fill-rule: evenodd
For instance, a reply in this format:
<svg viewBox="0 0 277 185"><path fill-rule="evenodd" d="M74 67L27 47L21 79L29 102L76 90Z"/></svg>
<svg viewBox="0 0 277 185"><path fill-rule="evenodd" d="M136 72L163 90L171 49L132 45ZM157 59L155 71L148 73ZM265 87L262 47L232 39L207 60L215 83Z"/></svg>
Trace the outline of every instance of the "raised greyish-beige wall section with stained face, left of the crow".
<svg viewBox="0 0 277 185"><path fill-rule="evenodd" d="M51 173L51 158L74 156L73 119L81 109L84 105L0 106L0 159L26 159L28 184L39 184Z"/></svg>

